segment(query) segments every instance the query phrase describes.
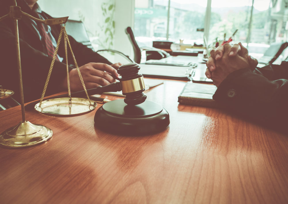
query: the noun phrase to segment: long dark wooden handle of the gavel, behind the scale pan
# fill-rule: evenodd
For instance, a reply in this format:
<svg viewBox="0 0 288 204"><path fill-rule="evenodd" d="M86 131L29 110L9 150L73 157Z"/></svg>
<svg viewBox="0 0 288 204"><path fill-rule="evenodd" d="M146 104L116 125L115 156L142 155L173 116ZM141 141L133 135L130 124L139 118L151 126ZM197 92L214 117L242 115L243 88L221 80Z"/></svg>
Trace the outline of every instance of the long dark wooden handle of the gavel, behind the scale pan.
<svg viewBox="0 0 288 204"><path fill-rule="evenodd" d="M104 92L117 92L117 91L121 91L121 90L122 90L122 88L121 88L120 82L118 81L118 82L114 82L114 83L111 83L111 84L106 85L106 86L98 86L98 87L93 88L93 89L87 89L87 93L88 93L88 96L91 96L94 94L103 94ZM53 99L53 98L66 98L66 97L69 97L69 94L62 94L62 95L58 95L58 96L53 96L50 98L45 98L45 100ZM86 93L84 90L73 92L73 93L71 93L71 97L84 98L84 97L86 97ZM40 100L31 102L25 106L25 109L26 110L33 110L35 105L39 102L40 102Z"/></svg>

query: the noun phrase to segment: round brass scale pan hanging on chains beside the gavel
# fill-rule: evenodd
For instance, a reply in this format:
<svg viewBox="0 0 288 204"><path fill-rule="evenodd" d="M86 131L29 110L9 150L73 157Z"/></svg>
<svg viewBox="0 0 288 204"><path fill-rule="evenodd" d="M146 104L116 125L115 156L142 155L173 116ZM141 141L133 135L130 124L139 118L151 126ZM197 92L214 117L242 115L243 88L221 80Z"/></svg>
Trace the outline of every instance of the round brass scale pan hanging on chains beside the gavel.
<svg viewBox="0 0 288 204"><path fill-rule="evenodd" d="M69 106L69 97L53 98L42 101L35 105L35 110L43 115L56 117L71 117L86 114L94 110L97 106L95 101L87 98L71 98L71 106Z"/></svg>

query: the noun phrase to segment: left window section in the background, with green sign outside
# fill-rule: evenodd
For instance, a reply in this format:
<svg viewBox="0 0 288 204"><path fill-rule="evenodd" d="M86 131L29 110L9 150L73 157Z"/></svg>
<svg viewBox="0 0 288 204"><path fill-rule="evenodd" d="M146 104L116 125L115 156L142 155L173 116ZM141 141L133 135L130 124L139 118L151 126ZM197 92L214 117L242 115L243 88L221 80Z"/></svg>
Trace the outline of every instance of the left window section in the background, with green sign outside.
<svg viewBox="0 0 288 204"><path fill-rule="evenodd" d="M206 2L198 0L135 0L136 40L140 47L153 40L203 42L203 32L194 31L204 28L205 12Z"/></svg>

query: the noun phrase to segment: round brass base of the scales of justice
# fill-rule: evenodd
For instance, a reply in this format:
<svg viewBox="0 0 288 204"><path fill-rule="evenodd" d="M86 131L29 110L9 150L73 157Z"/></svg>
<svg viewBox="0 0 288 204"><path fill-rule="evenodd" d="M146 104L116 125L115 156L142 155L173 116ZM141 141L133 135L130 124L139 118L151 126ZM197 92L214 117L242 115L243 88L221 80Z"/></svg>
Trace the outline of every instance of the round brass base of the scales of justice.
<svg viewBox="0 0 288 204"><path fill-rule="evenodd" d="M40 144L52 137L52 130L29 121L20 122L0 135L0 145L5 147L28 147Z"/></svg>

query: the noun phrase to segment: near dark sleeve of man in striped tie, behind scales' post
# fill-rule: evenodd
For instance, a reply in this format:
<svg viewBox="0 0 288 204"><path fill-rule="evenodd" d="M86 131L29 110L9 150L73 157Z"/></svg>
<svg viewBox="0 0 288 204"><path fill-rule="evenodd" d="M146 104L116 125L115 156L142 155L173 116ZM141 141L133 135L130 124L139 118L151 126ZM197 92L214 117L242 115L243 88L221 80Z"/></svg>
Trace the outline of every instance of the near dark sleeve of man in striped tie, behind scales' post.
<svg viewBox="0 0 288 204"><path fill-rule="evenodd" d="M14 90L15 99L19 101L19 78L14 31L5 23L0 23L0 83L7 89ZM23 79L24 101L41 97L52 58L32 48L20 38L20 57ZM69 67L69 70L72 69ZM55 61L46 95L60 91L59 81L66 77L66 65Z"/></svg>

